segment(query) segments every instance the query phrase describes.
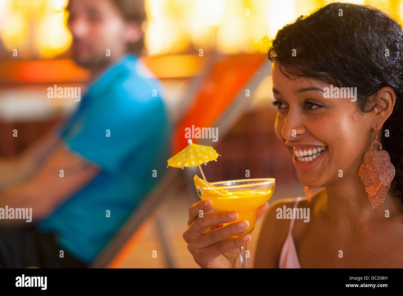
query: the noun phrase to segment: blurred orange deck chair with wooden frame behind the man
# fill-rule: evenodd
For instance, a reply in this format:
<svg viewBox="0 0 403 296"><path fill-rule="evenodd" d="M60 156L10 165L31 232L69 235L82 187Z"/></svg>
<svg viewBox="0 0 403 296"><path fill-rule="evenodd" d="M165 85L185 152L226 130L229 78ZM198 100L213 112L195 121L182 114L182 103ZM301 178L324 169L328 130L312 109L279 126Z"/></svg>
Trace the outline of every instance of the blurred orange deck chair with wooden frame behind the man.
<svg viewBox="0 0 403 296"><path fill-rule="evenodd" d="M191 103L187 112L175 124L172 155L188 145L185 139L186 127L218 127L220 137L223 137L247 109L250 99L253 98L253 91L260 81L271 72L269 60L261 54L212 55L210 63L207 64L210 66L206 74L196 78L190 88L192 95L184 98L191 100ZM246 89L249 89L250 97L245 95ZM210 139L194 139L193 142L211 145ZM119 267L154 223L164 248L166 266L175 267L164 229L165 214L158 209L168 195L175 193L175 188L180 188L179 182L183 182L183 173L178 168L166 170L168 171L162 180L116 232L110 243L93 261L91 268Z"/></svg>

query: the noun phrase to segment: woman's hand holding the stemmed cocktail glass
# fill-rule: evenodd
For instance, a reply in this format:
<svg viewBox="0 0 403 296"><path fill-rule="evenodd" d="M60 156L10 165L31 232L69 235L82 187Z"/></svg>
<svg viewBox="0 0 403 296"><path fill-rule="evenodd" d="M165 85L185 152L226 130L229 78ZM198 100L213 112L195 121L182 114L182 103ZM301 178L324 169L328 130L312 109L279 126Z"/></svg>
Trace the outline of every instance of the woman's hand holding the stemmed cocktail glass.
<svg viewBox="0 0 403 296"><path fill-rule="evenodd" d="M195 262L202 268L235 268L239 247L245 246L251 236L249 234L237 238L231 236L242 233L248 228L249 222L244 220L245 225L242 225L244 221L240 221L222 227L223 223L238 219L238 214L235 211L206 213L211 209L210 200L199 201L189 208L188 228L183 233L187 248ZM259 219L267 209L268 203L261 205L256 219ZM203 217L199 217L199 210L203 210Z"/></svg>

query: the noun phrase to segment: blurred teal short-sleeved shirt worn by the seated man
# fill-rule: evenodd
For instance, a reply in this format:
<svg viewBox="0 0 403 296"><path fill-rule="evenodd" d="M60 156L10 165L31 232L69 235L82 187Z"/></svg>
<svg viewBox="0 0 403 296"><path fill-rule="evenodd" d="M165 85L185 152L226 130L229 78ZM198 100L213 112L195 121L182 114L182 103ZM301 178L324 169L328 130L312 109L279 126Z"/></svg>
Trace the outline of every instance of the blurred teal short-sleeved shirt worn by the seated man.
<svg viewBox="0 0 403 296"><path fill-rule="evenodd" d="M101 171L37 228L56 232L58 244L86 263L96 258L168 170L170 123L162 87L139 74L141 65L131 55L112 64L58 130L73 153Z"/></svg>

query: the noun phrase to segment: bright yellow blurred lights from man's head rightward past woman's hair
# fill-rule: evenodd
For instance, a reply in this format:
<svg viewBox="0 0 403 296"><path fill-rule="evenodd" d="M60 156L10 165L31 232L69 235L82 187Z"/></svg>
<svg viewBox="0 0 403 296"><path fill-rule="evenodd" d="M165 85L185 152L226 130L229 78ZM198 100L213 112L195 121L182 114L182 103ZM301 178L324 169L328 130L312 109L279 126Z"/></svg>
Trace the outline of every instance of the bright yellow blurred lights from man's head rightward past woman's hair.
<svg viewBox="0 0 403 296"><path fill-rule="evenodd" d="M146 0L150 55L193 49L224 54L264 51L278 29L300 15L309 15L332 0ZM399 21L401 0L346 0L385 10ZM170 9L169 9L169 8Z"/></svg>

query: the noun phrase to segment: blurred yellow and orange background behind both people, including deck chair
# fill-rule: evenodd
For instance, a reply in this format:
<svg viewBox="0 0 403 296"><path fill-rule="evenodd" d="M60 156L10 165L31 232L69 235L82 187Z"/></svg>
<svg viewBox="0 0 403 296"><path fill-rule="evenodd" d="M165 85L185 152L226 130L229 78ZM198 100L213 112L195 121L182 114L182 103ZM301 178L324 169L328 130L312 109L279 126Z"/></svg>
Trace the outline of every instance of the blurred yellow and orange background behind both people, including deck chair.
<svg viewBox="0 0 403 296"><path fill-rule="evenodd" d="M347 2L376 6L399 22L403 18L403 0ZM328 3L145 0L147 54L141 59L165 88L174 126L172 155L185 147L183 128L192 122L219 126L218 141L204 142L222 155L203 166L209 181L245 178L249 170L250 178L276 178L270 202L304 196L291 158L274 134L276 108L270 104L271 70L265 54L278 29ZM18 155L78 107L73 98L47 97L49 86L85 89L89 79L71 60L67 4L0 0L0 157ZM205 103L209 107L200 114L198 106ZM14 129L18 137L12 137ZM198 200L191 180L195 173L191 168L181 171L181 182L144 213L141 226L109 267L198 267L182 238L188 208ZM253 266L261 222L248 244L248 267ZM152 250L161 250L161 256L153 258Z"/></svg>

